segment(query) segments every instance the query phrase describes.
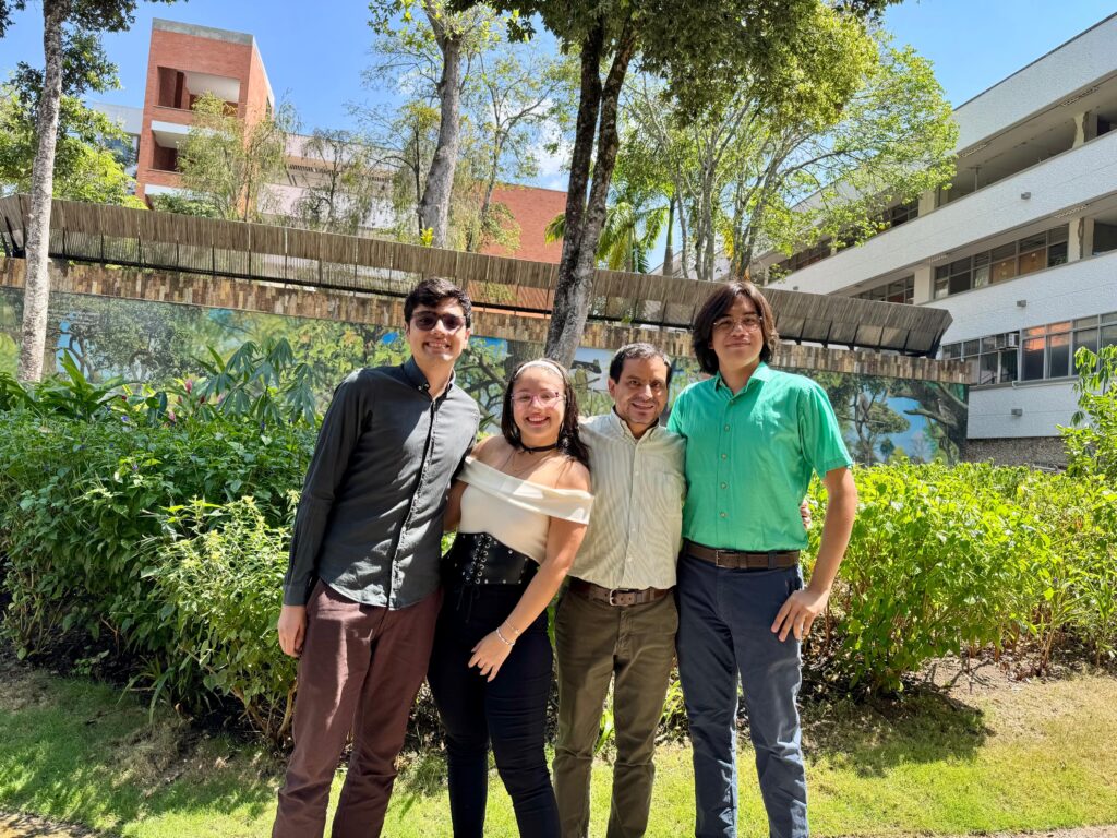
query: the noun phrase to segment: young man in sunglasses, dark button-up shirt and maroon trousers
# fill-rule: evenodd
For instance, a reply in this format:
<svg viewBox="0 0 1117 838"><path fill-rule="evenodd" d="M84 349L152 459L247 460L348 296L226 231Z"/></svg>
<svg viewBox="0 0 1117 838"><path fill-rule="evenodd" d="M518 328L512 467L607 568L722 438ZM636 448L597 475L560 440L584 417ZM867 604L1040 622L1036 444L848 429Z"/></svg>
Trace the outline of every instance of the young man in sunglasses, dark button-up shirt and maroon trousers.
<svg viewBox="0 0 1117 838"><path fill-rule="evenodd" d="M470 314L460 288L420 283L403 303L411 358L354 372L326 411L284 578L279 645L299 658L298 701L274 838L323 834L350 731L332 835L383 827L441 602L446 496L477 435L477 404L454 383Z"/></svg>

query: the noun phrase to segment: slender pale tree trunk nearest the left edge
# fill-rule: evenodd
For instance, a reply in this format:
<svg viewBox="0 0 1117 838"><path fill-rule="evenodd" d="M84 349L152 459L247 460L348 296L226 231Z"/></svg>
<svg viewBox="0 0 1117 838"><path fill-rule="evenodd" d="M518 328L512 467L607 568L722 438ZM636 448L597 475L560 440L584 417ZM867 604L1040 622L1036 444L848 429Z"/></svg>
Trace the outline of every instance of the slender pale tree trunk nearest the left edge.
<svg viewBox="0 0 1117 838"><path fill-rule="evenodd" d="M23 334L19 350L20 381L42 378L42 353L47 342L47 308L50 303L50 196L55 189L55 149L58 145L58 109L63 95L63 21L66 3L42 0L42 54L46 74L39 98L36 131L39 149L31 172L31 208L27 217L27 275L23 289Z"/></svg>

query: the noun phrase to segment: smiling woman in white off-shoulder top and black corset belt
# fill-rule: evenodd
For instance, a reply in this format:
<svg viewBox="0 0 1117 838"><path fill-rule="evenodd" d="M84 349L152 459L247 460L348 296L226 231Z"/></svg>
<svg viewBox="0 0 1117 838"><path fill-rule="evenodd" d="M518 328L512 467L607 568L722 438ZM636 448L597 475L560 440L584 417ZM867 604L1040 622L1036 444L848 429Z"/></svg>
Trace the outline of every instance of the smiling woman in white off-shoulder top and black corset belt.
<svg viewBox="0 0 1117 838"><path fill-rule="evenodd" d="M450 489L445 601L428 679L447 731L455 838L480 838L488 749L521 836L558 836L544 752L552 650L546 607L590 520L589 457L566 371L521 364L502 434L483 440Z"/></svg>

